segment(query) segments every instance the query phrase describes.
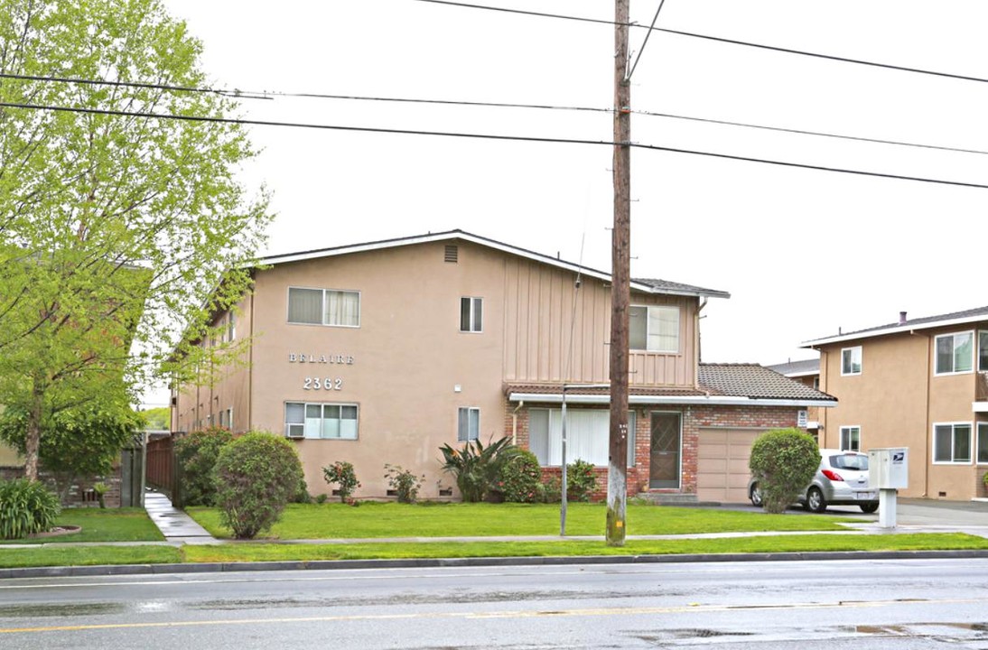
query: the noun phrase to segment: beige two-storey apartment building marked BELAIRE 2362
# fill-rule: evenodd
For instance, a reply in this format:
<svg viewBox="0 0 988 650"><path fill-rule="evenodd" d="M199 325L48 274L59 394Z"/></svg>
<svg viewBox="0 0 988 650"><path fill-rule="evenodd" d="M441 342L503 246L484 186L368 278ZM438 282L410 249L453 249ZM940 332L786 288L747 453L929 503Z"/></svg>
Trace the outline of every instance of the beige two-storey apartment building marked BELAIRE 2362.
<svg viewBox="0 0 988 650"><path fill-rule="evenodd" d="M557 471L565 398L567 461L606 473L608 274L459 230L261 263L235 315L217 314L250 337L249 365L173 387L173 431L286 436L313 494L347 460L359 498L388 496L384 463L425 476L422 498L455 498L444 444L507 436ZM631 294L629 493L744 501L755 436L835 400L761 366L700 364L700 311L726 292L636 280Z"/></svg>

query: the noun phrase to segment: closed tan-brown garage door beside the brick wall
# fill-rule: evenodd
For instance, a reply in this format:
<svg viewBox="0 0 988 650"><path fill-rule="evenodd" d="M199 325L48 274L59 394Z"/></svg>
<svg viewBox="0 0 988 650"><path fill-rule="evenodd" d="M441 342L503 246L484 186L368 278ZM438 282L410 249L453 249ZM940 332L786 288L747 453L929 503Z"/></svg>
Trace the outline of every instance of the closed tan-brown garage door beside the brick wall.
<svg viewBox="0 0 988 650"><path fill-rule="evenodd" d="M748 456L762 429L700 429L697 496L700 501L748 500Z"/></svg>

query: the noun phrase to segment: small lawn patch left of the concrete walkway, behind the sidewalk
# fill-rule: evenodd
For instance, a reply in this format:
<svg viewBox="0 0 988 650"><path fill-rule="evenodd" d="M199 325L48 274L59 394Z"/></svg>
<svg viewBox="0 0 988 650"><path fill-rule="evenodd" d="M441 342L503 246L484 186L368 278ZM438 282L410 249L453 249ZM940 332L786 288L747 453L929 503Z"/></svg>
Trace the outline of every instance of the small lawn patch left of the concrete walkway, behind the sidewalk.
<svg viewBox="0 0 988 650"><path fill-rule="evenodd" d="M0 544L57 544L79 541L160 541L165 537L143 508L67 508L56 526L79 526L73 534L36 539L6 539Z"/></svg>

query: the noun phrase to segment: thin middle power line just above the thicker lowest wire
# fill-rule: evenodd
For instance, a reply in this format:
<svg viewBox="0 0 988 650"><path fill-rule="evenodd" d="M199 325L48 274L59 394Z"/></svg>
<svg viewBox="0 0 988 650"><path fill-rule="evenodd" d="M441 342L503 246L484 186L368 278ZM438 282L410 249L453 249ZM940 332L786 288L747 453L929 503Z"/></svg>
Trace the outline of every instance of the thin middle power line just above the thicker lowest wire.
<svg viewBox="0 0 988 650"><path fill-rule="evenodd" d="M632 68L632 72L633 72L633 68ZM510 102L469 102L463 100L413 99L413 98L403 98L403 97L373 97L373 96L361 96L361 95L297 93L297 92L282 92L282 91L226 90L226 89L217 89L217 88L208 88L208 87L198 88L198 87L189 87L189 86L169 86L165 84L151 84L151 83L143 83L143 82L135 82L135 81L104 81L99 79L84 79L78 77L43 77L37 75L22 75L22 74L11 74L4 72L0 72L0 79L24 79L31 81L55 81L55 82L79 83L79 84L88 84L88 85L110 85L117 87L151 88L158 90L173 90L179 92L211 93L217 95L224 95L228 97L248 98L248 99L273 99L274 97L288 97L288 98L303 98L303 99L346 100L346 101L358 101L358 102L466 106L466 107L477 107L477 108L533 109L533 110L543 110L543 111L574 111L574 112L608 113L608 114L614 113L613 108L595 108L595 107L587 107L587 106L521 104L521 103L510 103ZM815 131L815 130L801 129L801 128L786 128L782 126L771 126L768 124L734 122L729 120L717 120L713 118L696 118L692 116L683 116L683 115L675 115L671 113L659 113L654 111L643 111L643 110L632 110L631 113L634 115L641 115L641 116L648 116L655 118L668 118L671 120L685 120L690 122L725 124L729 126L758 128L762 130L772 130L783 133L796 133L800 135L816 135L819 137L831 137L831 138L855 140L861 142L874 142L876 144L890 144L895 146L936 149L941 151L953 151L957 153L974 153L979 155L988 155L988 151L979 150L979 149L964 149L959 147L949 147L949 146L943 146L937 144L906 142L903 140L889 140L889 139L881 139L881 138L864 137L858 135L844 135L841 133L828 133L825 131Z"/></svg>

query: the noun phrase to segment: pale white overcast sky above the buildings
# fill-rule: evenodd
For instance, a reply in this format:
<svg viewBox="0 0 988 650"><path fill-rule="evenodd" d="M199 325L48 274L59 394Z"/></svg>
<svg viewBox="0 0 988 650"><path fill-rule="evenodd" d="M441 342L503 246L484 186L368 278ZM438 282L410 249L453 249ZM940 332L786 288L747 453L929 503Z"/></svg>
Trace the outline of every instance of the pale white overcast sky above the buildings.
<svg viewBox="0 0 988 650"><path fill-rule="evenodd" d="M613 20L604 0L477 0ZM272 96L240 117L611 142L614 28L420 0L165 0L217 88L545 105ZM658 0L631 0L651 24ZM988 78L988 3L667 0L656 26ZM631 30L631 139L701 153L988 185L988 83ZM566 107L598 111L562 110ZM817 131L903 146L697 120ZM242 170L286 253L460 228L610 271L613 149L253 126ZM944 148L935 148L944 147ZM650 149L631 154L631 275L726 290L702 361L810 359L802 342L988 304L988 189Z"/></svg>

